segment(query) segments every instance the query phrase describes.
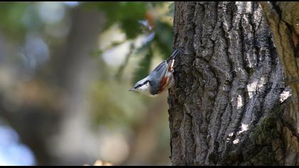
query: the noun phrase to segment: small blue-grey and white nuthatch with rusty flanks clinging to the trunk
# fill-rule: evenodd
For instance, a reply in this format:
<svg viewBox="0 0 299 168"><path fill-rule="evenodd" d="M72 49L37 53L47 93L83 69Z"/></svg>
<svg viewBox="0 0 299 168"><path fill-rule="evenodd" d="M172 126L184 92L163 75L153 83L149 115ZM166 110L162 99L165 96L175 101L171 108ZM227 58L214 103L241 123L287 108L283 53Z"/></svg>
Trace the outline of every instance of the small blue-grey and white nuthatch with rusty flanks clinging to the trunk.
<svg viewBox="0 0 299 168"><path fill-rule="evenodd" d="M175 49L172 56L157 65L150 75L135 83L134 87L129 91L137 91L144 95L154 97L171 88L174 84L174 58L176 58L179 53L180 51Z"/></svg>

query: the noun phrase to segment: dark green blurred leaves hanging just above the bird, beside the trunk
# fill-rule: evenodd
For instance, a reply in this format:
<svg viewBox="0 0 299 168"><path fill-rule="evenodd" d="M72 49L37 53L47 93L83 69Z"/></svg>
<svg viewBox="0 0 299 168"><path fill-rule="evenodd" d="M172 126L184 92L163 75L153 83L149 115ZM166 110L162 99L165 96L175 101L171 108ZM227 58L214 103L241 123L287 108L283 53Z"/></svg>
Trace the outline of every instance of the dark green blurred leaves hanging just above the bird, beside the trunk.
<svg viewBox="0 0 299 168"><path fill-rule="evenodd" d="M132 78L132 84L150 73L150 65L152 63L153 50L158 50L162 54L161 58L166 59L172 53L172 23L163 21L161 16L152 16L148 9L152 11L164 6L164 2L106 2L94 4L85 4L86 7L97 7L100 11L104 11L107 16L105 28L110 28L115 23L120 24L120 28L125 33L127 40L135 40L137 36L142 34L150 35L154 32L154 38L140 48L135 48L139 56L144 56L140 61L139 68ZM156 9L157 8L157 9ZM166 16L172 16L174 11L174 3L170 3L167 7L169 10ZM140 21L147 21L142 25ZM112 43L109 48L115 47L120 42ZM154 46L154 48L153 48ZM103 51L99 52L103 53ZM142 54L140 54L142 53ZM118 76L117 76L118 77Z"/></svg>

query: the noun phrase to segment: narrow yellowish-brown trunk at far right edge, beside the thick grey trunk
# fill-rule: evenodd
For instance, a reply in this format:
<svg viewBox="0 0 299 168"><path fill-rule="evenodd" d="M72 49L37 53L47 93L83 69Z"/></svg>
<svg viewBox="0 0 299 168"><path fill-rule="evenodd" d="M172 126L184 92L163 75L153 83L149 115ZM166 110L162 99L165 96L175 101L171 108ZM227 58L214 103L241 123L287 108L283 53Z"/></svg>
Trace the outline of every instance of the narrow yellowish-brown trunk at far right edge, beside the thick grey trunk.
<svg viewBox="0 0 299 168"><path fill-rule="evenodd" d="M285 73L285 83L292 89L290 103L285 107L283 121L287 165L299 164L299 3L261 2L268 25L273 31L280 63Z"/></svg>

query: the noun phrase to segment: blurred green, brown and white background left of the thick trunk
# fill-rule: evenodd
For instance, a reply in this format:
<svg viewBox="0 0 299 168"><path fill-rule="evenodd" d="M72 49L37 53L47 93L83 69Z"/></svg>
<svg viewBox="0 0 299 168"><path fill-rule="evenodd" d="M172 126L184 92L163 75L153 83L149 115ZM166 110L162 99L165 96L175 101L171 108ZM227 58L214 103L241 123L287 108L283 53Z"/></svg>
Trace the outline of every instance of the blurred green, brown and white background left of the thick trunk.
<svg viewBox="0 0 299 168"><path fill-rule="evenodd" d="M170 165L173 2L0 2L0 165Z"/></svg>

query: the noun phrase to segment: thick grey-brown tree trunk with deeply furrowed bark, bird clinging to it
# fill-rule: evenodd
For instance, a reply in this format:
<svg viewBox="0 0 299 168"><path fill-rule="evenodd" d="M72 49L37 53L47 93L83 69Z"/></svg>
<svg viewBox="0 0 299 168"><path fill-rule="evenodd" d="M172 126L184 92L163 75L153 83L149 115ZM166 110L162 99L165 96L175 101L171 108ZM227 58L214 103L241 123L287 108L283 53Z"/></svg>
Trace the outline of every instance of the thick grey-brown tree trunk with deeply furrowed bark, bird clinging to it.
<svg viewBox="0 0 299 168"><path fill-rule="evenodd" d="M174 46L173 165L299 164L282 117L290 89L258 2L175 2Z"/></svg>

